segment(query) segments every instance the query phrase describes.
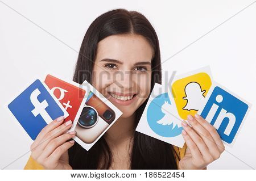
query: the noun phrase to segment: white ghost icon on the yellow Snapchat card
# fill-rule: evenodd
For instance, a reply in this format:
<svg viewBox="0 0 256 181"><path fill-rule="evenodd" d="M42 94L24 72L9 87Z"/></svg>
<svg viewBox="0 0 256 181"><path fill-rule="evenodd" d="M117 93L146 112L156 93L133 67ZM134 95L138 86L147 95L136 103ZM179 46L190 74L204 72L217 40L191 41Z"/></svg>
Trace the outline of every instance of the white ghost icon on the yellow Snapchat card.
<svg viewBox="0 0 256 181"><path fill-rule="evenodd" d="M204 103L205 90L201 89L201 86L197 82L190 82L185 86L186 96L183 98L187 100L187 104L183 107L183 110L195 110L198 111L201 105Z"/></svg>

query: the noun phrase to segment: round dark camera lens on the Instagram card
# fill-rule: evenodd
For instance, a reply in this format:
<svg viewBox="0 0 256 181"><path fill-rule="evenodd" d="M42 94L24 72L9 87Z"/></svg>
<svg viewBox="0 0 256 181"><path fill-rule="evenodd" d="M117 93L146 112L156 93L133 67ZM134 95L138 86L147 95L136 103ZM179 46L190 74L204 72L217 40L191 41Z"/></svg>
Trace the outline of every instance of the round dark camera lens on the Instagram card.
<svg viewBox="0 0 256 181"><path fill-rule="evenodd" d="M79 125L83 128L92 128L98 122L98 112L91 106L85 106L79 117Z"/></svg>

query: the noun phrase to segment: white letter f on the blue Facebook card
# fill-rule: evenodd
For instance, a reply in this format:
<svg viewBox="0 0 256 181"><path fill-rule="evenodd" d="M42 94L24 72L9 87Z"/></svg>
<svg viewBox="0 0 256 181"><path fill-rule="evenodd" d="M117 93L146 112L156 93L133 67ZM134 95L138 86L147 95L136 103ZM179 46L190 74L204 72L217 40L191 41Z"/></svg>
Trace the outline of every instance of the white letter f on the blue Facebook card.
<svg viewBox="0 0 256 181"><path fill-rule="evenodd" d="M41 94L39 89L35 89L31 95L30 100L33 106L35 107L34 110L31 112L36 117L38 115L41 115L44 120L52 121L51 116L49 116L48 112L46 111L46 108L49 106L46 100L43 100L42 103L39 102L38 96Z"/></svg>

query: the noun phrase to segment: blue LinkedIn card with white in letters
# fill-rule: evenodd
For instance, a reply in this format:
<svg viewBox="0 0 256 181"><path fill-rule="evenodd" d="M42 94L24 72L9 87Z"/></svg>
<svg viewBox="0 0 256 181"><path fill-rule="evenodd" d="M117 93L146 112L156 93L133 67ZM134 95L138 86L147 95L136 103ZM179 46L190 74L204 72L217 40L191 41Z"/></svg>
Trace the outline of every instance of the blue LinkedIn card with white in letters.
<svg viewBox="0 0 256 181"><path fill-rule="evenodd" d="M213 82L198 114L217 129L226 145L233 146L250 107L250 103Z"/></svg>

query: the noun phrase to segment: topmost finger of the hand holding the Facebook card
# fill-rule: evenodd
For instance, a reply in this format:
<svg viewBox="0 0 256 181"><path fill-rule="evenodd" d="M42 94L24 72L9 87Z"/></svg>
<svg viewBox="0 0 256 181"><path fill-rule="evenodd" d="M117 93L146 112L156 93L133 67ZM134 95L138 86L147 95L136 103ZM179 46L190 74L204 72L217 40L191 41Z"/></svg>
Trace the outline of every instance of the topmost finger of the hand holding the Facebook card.
<svg viewBox="0 0 256 181"><path fill-rule="evenodd" d="M42 141L42 138L48 133L51 132L53 129L59 127L59 125L61 125L63 123L64 117L60 116L57 119L53 120L51 123L49 123L48 125L46 125L46 127L44 127L42 129L42 131L40 131L40 133L38 134L38 136L36 137L36 140L33 142L33 144L31 145L31 150L36 148L36 146L39 145L39 143Z"/></svg>

